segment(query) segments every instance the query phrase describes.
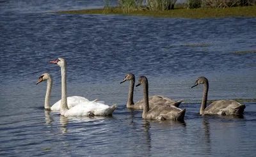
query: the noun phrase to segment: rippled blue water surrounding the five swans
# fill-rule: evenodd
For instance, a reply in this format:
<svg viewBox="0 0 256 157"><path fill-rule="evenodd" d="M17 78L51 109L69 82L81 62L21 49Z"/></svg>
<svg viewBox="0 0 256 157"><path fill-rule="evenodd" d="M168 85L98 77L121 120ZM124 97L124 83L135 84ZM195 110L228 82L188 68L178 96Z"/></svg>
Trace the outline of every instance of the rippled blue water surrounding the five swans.
<svg viewBox="0 0 256 157"><path fill-rule="evenodd" d="M198 116L202 86L209 100L255 98L255 18L155 19L125 15L70 15L52 10L100 8L102 1L1 1L1 156L254 156L255 102L243 118ZM51 73L51 104L61 98L60 68L67 61L68 95L118 103L112 117L62 117L44 110ZM149 94L184 99L184 123L146 121L125 108L126 73L148 77ZM136 87L134 101L142 98Z"/></svg>

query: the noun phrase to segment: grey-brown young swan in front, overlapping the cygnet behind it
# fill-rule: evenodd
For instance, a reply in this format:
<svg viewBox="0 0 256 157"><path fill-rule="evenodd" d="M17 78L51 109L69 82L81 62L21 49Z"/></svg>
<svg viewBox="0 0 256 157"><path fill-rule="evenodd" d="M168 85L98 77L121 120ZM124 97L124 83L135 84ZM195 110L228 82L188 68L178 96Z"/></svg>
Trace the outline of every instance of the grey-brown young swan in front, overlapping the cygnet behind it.
<svg viewBox="0 0 256 157"><path fill-rule="evenodd" d="M141 84L143 85L143 97L144 97L143 99L145 100L143 113L142 113L142 117L144 119L157 119L157 120L172 119L172 120L178 120L178 121L184 120L186 108L182 110L173 105L158 105L153 107L152 109L149 109L147 77L144 77L144 76L140 77L139 83L136 85L136 87L140 86Z"/></svg>

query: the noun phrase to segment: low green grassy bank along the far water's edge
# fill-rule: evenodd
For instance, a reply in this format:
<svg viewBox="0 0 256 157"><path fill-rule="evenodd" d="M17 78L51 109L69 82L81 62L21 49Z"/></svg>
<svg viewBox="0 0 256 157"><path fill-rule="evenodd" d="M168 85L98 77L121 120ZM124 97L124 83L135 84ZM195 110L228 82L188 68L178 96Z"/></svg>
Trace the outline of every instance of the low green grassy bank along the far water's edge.
<svg viewBox="0 0 256 157"><path fill-rule="evenodd" d="M136 15L136 16L151 16L151 17L165 17L165 18L225 18L225 17L256 17L256 6L243 6L231 8L197 8L184 9L177 8L168 11L148 11L148 10L134 10L129 13L124 13L122 8L106 8L106 9L92 9L92 10L69 10L69 11L51 11L51 13L85 13L85 14L122 14L122 15Z"/></svg>

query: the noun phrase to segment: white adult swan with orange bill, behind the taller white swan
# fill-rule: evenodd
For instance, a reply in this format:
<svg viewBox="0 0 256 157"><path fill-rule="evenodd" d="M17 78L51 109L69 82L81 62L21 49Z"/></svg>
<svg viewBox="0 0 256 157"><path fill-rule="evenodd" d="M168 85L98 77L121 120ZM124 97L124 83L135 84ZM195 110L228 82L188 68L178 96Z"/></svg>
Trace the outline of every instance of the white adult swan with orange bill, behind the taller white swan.
<svg viewBox="0 0 256 157"><path fill-rule="evenodd" d="M50 107L50 97L51 97L51 90L52 90L51 75L49 73L43 73L36 84L39 84L40 82L43 82L45 80L47 80L47 89L45 94L44 108L52 111L60 111L61 100L57 101L52 105L52 107ZM89 101L89 100L82 96L68 96L67 98L68 108L72 108L78 103L81 103L83 101ZM97 100L93 100L93 101L97 101Z"/></svg>

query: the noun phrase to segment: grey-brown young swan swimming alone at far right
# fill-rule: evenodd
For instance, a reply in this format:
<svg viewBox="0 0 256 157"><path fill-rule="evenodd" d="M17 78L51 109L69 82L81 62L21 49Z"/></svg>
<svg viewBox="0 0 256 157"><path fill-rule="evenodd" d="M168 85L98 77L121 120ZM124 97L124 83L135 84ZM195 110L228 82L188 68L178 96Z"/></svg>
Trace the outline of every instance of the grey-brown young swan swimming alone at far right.
<svg viewBox="0 0 256 157"><path fill-rule="evenodd" d="M243 115L245 105L241 105L240 103L237 103L237 101L235 100L218 100L214 101L208 107L206 107L209 82L205 77L198 77L198 79L195 82L195 85L191 88L198 86L198 84L204 84L204 92L200 108L200 115Z"/></svg>

